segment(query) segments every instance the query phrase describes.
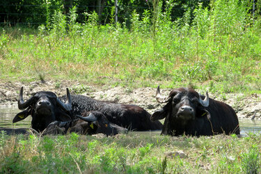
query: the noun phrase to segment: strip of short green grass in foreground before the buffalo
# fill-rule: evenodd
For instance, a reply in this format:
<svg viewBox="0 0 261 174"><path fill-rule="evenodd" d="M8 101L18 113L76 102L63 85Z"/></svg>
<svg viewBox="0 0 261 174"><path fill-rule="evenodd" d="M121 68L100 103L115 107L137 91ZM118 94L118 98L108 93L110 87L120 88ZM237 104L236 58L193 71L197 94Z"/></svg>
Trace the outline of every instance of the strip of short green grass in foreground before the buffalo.
<svg viewBox="0 0 261 174"><path fill-rule="evenodd" d="M6 136L1 173L260 173L260 134ZM184 152L184 155L175 155Z"/></svg>

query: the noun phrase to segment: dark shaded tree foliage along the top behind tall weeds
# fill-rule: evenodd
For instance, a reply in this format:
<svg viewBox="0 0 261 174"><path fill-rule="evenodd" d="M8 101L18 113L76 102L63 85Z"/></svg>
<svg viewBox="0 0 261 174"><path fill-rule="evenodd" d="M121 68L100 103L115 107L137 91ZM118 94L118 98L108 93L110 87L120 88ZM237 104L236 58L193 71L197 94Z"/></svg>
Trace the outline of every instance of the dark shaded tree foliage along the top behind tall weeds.
<svg viewBox="0 0 261 174"><path fill-rule="evenodd" d="M118 22L125 22L130 26L132 13L136 10L142 16L145 10L152 11L153 4L159 0L118 0ZM184 12L198 6L202 2L203 8L209 8L210 0L182 0L171 1L173 7L170 13L172 19L177 19L184 15ZM99 15L100 24L107 24L114 18L115 0L6 0L0 3L0 22L1 24L30 24L38 26L48 24L54 13L61 12L69 15L70 8L77 7L77 22L84 23L87 14L95 11ZM164 12L169 6L169 1L161 1L161 11Z"/></svg>

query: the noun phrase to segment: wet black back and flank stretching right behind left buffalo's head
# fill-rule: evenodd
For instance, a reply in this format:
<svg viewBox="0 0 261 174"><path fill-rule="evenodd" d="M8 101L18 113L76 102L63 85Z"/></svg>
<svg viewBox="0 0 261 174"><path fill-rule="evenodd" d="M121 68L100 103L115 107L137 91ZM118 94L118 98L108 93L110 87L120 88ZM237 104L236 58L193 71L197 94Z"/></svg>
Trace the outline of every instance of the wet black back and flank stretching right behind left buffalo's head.
<svg viewBox="0 0 261 174"><path fill-rule="evenodd" d="M65 96L63 100L65 100ZM162 124L159 120L152 122L150 113L133 104L102 102L83 95L72 95L72 110L76 115L81 115L85 111L99 111L106 116L109 122L129 130L148 131L162 129Z"/></svg>

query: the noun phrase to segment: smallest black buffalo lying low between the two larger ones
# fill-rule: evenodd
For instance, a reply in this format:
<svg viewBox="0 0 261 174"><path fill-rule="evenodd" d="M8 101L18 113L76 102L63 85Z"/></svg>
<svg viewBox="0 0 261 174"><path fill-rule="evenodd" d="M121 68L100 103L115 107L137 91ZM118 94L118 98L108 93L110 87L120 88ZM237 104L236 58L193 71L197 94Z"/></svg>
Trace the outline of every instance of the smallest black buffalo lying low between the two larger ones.
<svg viewBox="0 0 261 174"><path fill-rule="evenodd" d="M77 132L78 134L106 134L107 136L119 133L127 133L128 129L109 122L103 113L99 111L86 111L82 116L76 115L75 120L68 122L52 122L43 134L68 134Z"/></svg>

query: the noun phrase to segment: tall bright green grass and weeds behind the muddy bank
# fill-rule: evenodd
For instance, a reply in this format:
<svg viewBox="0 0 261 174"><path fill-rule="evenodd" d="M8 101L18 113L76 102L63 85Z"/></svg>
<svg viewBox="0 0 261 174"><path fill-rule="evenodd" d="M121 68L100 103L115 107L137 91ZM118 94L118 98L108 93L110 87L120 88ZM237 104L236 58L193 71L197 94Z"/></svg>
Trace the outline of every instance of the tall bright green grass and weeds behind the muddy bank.
<svg viewBox="0 0 261 174"><path fill-rule="evenodd" d="M261 18L248 1L212 1L184 17L171 19L171 4L125 23L98 24L96 13L85 24L57 11L47 26L31 34L19 27L0 35L1 79L84 79L95 84L166 87L193 85L213 92L260 90ZM48 8L47 8L48 10ZM175 9L174 9L175 10ZM136 83L135 83L136 82Z"/></svg>

